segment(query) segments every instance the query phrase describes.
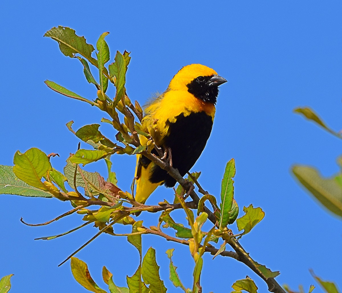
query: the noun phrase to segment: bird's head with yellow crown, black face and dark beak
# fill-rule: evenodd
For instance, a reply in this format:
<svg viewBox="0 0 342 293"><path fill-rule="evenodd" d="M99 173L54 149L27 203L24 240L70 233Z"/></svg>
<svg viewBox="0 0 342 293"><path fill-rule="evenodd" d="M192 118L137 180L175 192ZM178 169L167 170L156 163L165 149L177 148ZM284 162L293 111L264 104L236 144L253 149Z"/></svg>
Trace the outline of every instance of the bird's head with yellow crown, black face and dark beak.
<svg viewBox="0 0 342 293"><path fill-rule="evenodd" d="M191 64L177 72L170 81L169 90L185 90L204 102L215 104L219 94L218 86L226 81L207 66Z"/></svg>

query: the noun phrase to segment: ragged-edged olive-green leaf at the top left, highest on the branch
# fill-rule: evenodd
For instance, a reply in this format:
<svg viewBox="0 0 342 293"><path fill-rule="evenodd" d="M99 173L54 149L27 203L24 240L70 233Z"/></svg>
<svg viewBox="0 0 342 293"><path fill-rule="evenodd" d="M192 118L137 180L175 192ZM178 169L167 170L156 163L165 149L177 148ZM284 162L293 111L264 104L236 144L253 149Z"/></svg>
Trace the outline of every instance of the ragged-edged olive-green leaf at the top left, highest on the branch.
<svg viewBox="0 0 342 293"><path fill-rule="evenodd" d="M84 37L79 37L75 34L75 30L68 27L53 27L47 31L44 37L50 37L57 41L60 45L60 50L65 56L76 57L75 54L80 54L93 65L97 65L97 61L91 57L94 47L87 44Z"/></svg>

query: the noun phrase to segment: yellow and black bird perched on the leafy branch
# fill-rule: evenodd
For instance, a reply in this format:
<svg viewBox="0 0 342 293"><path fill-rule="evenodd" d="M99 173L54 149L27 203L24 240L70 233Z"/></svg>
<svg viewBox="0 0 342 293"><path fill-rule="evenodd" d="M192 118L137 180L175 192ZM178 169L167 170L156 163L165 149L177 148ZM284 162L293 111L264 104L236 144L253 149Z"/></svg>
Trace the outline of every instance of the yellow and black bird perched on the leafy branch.
<svg viewBox="0 0 342 293"><path fill-rule="evenodd" d="M207 66L187 65L172 78L164 93L145 105L142 130L152 135L158 147L171 150L172 167L182 176L193 167L207 143L218 86L224 82ZM140 142L146 145L147 138L141 136ZM159 185L176 184L165 170L143 155L137 155L135 177L135 200L140 203L145 203Z"/></svg>

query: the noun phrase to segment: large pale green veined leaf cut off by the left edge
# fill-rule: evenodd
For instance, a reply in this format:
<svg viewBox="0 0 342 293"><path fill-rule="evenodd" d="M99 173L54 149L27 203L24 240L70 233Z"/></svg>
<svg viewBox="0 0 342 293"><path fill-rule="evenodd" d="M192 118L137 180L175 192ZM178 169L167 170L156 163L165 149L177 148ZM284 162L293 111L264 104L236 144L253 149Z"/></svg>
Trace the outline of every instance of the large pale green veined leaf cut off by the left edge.
<svg viewBox="0 0 342 293"><path fill-rule="evenodd" d="M13 173L12 166L0 165L0 194L51 198L50 192L28 185Z"/></svg>

